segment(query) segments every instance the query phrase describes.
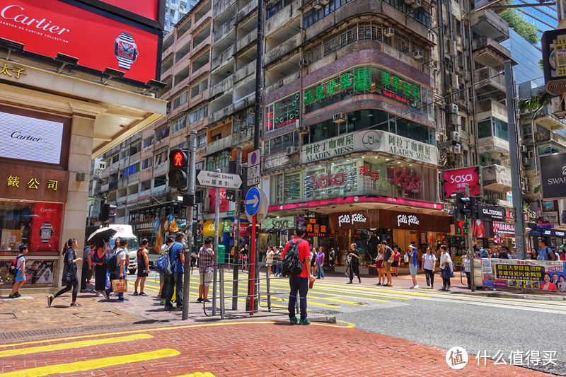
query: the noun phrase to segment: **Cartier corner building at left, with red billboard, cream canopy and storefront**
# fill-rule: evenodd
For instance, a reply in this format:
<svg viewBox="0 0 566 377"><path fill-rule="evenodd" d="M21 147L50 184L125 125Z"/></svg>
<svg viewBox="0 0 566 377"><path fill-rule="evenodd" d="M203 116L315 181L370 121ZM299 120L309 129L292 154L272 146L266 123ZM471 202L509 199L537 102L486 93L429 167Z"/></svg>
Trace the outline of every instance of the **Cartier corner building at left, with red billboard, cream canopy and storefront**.
<svg viewBox="0 0 566 377"><path fill-rule="evenodd" d="M0 6L0 294L21 244L21 293L60 286L64 243L84 245L91 159L165 114L155 5L141 16L74 1Z"/></svg>

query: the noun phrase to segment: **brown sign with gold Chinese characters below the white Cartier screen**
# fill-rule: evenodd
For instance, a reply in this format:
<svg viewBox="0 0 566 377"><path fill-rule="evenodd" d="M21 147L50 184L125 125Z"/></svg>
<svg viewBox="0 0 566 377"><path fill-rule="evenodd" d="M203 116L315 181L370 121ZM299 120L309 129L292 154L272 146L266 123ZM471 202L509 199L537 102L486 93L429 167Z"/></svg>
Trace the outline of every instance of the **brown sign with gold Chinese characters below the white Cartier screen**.
<svg viewBox="0 0 566 377"><path fill-rule="evenodd" d="M69 172L0 163L0 197L37 202L67 201Z"/></svg>

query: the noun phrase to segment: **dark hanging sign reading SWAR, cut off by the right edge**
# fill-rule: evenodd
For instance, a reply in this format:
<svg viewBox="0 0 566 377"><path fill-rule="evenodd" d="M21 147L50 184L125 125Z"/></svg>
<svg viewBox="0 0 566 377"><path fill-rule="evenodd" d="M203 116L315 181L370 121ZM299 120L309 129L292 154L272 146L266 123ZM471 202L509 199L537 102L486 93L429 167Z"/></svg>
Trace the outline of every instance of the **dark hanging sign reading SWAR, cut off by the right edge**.
<svg viewBox="0 0 566 377"><path fill-rule="evenodd" d="M566 152L538 156L543 199L566 198Z"/></svg>

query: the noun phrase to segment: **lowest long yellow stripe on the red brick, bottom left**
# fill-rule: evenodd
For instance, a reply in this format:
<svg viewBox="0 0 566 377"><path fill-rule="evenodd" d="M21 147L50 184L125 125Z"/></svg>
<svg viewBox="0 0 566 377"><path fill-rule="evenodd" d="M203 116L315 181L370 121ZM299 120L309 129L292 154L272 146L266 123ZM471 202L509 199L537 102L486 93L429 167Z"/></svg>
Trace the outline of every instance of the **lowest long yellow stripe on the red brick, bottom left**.
<svg viewBox="0 0 566 377"><path fill-rule="evenodd" d="M0 373L1 377L40 377L50 374L75 373L79 371L91 371L93 369L101 369L106 366L115 366L128 363L136 363L137 361L145 361L151 359L161 359L163 357L178 356L180 352L176 349L158 349L157 351L140 352L139 354L129 354L120 356L104 357L103 359L93 359L87 361L76 361L67 364L54 364L49 366L40 366L38 368L23 369L21 371L13 371L8 373Z"/></svg>

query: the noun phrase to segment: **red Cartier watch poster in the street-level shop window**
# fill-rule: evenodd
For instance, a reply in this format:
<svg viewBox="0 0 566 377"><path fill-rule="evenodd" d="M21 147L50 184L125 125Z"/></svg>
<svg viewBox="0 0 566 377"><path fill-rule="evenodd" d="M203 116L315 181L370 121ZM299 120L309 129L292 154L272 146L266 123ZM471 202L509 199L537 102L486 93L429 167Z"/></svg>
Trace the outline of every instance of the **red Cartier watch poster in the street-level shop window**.
<svg viewBox="0 0 566 377"><path fill-rule="evenodd" d="M63 204L37 202L33 205L30 251L59 250L62 216Z"/></svg>

